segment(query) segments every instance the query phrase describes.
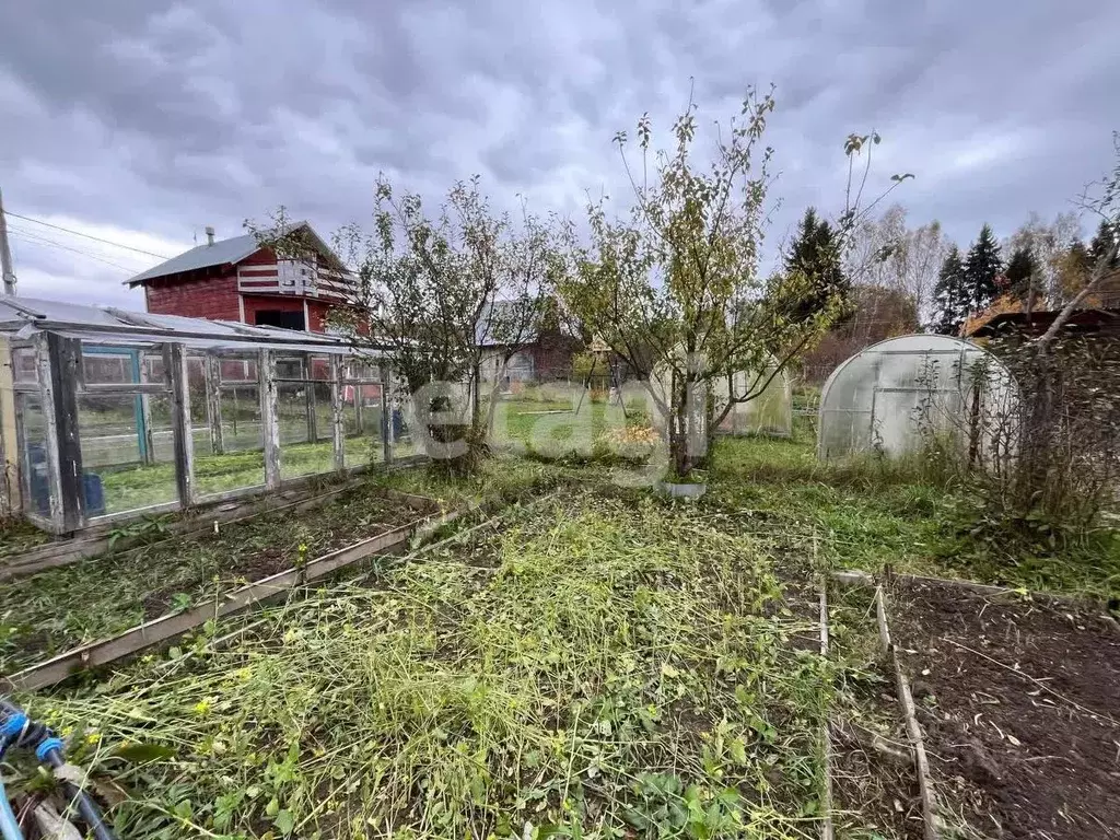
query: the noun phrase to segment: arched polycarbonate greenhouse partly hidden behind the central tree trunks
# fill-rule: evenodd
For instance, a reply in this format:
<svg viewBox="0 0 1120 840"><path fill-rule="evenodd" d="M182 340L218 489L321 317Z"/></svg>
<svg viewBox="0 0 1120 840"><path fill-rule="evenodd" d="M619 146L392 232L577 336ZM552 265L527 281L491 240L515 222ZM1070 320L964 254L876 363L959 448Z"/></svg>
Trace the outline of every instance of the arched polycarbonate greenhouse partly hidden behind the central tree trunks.
<svg viewBox="0 0 1120 840"><path fill-rule="evenodd" d="M776 371L777 361L768 358L760 371L739 371L729 383L727 377L711 380L712 417L719 418L730 400L731 389L736 398L749 395L746 402L737 402L722 418L717 431L725 435L773 435L790 437L793 432L793 389L784 370ZM776 372L775 372L776 371ZM650 376L650 384L663 400L672 385L672 372L668 365L657 365ZM729 388L730 385L730 388ZM697 404L704 404L698 395ZM654 424L664 426L660 412L653 410Z"/></svg>

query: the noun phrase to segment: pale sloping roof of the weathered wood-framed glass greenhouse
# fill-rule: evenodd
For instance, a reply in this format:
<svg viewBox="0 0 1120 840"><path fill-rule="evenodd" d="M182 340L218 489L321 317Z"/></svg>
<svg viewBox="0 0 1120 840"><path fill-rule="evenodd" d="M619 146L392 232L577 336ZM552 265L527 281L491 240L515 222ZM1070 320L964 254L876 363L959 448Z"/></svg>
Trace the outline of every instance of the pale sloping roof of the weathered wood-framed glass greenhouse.
<svg viewBox="0 0 1120 840"><path fill-rule="evenodd" d="M325 333L0 296L0 333L30 338L40 332L60 333L99 344L175 342L214 349L272 347L312 353L351 352L345 338Z"/></svg>

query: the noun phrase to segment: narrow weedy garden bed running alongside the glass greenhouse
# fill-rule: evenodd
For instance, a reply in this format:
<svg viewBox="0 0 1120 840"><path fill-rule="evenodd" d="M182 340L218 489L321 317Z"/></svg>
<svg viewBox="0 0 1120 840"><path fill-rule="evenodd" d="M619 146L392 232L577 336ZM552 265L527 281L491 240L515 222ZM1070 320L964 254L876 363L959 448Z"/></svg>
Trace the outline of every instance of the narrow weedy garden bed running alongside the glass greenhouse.
<svg viewBox="0 0 1120 840"><path fill-rule="evenodd" d="M224 595L423 515L358 485L312 512L263 513L218 528L82 560L0 591L0 673ZM428 512L435 512L432 503Z"/></svg>

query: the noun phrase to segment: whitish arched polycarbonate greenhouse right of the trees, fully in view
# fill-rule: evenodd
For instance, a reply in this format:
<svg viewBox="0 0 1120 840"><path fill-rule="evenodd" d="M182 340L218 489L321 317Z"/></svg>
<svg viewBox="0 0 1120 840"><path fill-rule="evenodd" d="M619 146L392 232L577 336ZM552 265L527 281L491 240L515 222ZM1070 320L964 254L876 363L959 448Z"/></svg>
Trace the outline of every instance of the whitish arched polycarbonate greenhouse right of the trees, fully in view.
<svg viewBox="0 0 1120 840"><path fill-rule="evenodd" d="M989 457L1014 441L1017 393L1004 364L970 342L888 338L843 362L824 383L816 454L898 456L935 436Z"/></svg>

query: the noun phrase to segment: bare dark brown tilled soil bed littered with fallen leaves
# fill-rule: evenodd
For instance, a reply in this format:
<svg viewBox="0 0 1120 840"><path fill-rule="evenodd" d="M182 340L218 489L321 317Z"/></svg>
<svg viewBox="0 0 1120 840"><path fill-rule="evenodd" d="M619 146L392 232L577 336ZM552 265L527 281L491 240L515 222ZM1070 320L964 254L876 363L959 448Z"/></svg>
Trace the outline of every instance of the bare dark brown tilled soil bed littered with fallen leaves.
<svg viewBox="0 0 1120 840"><path fill-rule="evenodd" d="M946 816L990 838L1120 838L1120 629L941 584L892 603Z"/></svg>

